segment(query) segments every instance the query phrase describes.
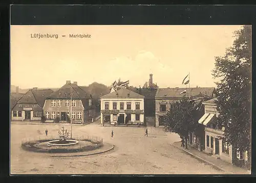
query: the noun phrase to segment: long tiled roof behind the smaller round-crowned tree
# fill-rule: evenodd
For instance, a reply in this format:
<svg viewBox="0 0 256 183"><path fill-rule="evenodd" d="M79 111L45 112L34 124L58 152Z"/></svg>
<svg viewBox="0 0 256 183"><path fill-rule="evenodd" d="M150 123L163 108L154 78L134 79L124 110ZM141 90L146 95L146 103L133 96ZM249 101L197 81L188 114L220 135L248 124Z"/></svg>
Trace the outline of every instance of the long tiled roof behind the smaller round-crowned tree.
<svg viewBox="0 0 256 183"><path fill-rule="evenodd" d="M159 88L156 92L156 98L181 98L184 95L180 95L181 92L186 90L187 96L194 97L197 95L207 95L210 97L214 92L214 87L207 88Z"/></svg>

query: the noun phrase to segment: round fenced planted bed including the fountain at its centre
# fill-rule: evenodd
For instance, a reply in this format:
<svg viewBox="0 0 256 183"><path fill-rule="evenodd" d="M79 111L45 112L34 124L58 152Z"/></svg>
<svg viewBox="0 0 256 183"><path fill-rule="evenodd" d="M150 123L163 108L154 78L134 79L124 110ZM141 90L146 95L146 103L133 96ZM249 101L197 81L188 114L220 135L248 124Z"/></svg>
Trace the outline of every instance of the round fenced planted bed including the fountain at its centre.
<svg viewBox="0 0 256 183"><path fill-rule="evenodd" d="M23 140L22 148L34 152L70 153L95 150L103 146L103 139L100 137L71 139L69 136L70 132L62 126L58 130L58 138Z"/></svg>

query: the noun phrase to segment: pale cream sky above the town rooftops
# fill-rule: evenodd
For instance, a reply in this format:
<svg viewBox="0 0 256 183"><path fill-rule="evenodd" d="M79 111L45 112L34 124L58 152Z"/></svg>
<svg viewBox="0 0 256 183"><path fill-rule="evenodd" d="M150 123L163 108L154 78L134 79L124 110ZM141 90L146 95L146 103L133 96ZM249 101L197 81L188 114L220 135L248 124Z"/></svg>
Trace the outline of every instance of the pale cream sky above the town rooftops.
<svg viewBox="0 0 256 183"><path fill-rule="evenodd" d="M216 87L215 57L232 46L241 25L11 25L11 85L59 88L67 80L143 86L153 74L160 88ZM31 38L34 34L56 38ZM91 35L70 38L70 34ZM66 35L62 37L61 35Z"/></svg>

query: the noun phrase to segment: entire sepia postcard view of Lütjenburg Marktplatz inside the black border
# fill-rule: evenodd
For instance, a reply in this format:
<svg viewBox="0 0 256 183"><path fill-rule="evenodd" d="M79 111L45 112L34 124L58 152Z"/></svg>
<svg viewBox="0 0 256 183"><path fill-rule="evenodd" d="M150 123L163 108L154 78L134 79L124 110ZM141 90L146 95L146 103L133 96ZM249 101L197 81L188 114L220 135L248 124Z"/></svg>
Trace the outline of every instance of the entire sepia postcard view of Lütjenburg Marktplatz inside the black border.
<svg viewBox="0 0 256 183"><path fill-rule="evenodd" d="M251 174L251 25L11 25L10 175Z"/></svg>

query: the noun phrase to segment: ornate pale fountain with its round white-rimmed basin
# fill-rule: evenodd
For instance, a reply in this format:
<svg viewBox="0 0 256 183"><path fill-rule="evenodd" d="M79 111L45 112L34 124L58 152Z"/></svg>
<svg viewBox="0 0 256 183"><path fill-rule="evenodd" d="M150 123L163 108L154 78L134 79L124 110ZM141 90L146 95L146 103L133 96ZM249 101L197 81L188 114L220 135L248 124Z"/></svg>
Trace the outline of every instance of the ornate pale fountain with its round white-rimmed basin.
<svg viewBox="0 0 256 183"><path fill-rule="evenodd" d="M76 140L71 140L69 138L69 132L65 129L64 126L60 130L58 130L59 140L52 140L47 144L50 146L67 146L67 145L75 145L78 143Z"/></svg>

